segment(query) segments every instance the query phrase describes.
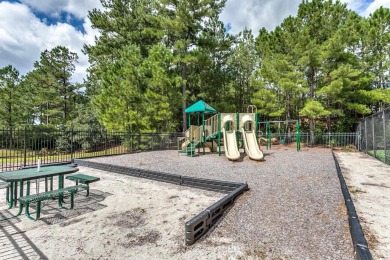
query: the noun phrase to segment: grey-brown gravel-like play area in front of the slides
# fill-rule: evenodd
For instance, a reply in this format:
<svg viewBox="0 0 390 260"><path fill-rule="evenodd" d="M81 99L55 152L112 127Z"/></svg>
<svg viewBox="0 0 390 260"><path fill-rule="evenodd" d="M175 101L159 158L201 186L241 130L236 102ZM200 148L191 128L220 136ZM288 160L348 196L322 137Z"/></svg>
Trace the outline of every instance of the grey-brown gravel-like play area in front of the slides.
<svg viewBox="0 0 390 260"><path fill-rule="evenodd" d="M177 151L155 151L89 160L247 182L250 191L237 200L216 228L182 250L214 255L219 246L228 243L231 256L243 259L353 259L346 208L331 151L313 148L296 152L274 146L265 155L264 162L247 156L231 162L224 155L190 158Z"/></svg>

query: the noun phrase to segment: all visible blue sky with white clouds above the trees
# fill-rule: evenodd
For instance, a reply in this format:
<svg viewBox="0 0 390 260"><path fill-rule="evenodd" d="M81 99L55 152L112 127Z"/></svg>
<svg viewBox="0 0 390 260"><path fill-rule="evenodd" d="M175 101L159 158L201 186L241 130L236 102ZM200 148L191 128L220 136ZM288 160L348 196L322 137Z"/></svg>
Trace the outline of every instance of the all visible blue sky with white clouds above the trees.
<svg viewBox="0 0 390 260"><path fill-rule="evenodd" d="M273 30L295 15L302 0L227 0L220 15L230 33L245 27L256 35L261 27ZM368 16L390 0L341 0L348 8ZM93 44L98 31L91 27L88 10L101 8L99 0L0 0L0 68L13 65L23 75L33 69L40 53L57 45L77 52L73 80L82 82L88 58L84 44Z"/></svg>

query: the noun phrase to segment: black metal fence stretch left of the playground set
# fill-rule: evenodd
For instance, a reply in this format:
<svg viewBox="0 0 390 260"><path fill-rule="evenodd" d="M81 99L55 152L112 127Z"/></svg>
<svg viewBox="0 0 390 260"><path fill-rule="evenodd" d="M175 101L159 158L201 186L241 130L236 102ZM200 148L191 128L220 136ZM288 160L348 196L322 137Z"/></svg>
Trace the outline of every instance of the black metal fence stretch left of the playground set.
<svg viewBox="0 0 390 260"><path fill-rule="evenodd" d="M181 133L129 134L109 131L0 130L1 171L73 158L177 149Z"/></svg>

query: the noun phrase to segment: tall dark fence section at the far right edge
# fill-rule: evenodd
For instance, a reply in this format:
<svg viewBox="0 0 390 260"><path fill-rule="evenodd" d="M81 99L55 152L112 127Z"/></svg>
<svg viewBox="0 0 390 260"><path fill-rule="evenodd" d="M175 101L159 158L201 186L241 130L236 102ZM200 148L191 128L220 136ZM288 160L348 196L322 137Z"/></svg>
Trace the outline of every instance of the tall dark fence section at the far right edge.
<svg viewBox="0 0 390 260"><path fill-rule="evenodd" d="M361 151L390 164L390 109L365 118L356 131L361 136Z"/></svg>

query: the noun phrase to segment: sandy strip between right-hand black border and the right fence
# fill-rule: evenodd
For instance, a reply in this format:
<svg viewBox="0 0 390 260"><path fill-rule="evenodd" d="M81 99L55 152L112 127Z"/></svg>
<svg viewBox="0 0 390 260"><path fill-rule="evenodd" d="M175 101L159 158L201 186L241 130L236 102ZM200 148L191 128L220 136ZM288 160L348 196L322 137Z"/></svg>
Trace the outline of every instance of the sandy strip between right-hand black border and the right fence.
<svg viewBox="0 0 390 260"><path fill-rule="evenodd" d="M390 166L360 152L337 152L374 259L390 259Z"/></svg>

